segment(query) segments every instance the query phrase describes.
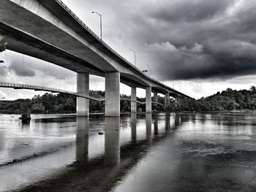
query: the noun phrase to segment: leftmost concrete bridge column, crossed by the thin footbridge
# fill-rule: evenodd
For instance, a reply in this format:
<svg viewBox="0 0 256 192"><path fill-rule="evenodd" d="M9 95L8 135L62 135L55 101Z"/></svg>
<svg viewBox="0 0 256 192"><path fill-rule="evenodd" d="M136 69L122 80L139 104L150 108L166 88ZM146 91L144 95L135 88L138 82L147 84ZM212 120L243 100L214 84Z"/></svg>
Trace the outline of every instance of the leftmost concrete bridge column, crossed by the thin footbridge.
<svg viewBox="0 0 256 192"><path fill-rule="evenodd" d="M89 96L89 73L78 73L77 80L78 94ZM89 116L89 99L77 97L77 116Z"/></svg>

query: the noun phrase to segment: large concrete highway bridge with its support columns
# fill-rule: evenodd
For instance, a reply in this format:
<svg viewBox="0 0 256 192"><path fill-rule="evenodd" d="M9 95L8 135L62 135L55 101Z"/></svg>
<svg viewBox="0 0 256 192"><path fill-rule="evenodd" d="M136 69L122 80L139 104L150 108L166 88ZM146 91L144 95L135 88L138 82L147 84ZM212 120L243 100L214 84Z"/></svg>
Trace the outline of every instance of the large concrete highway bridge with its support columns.
<svg viewBox="0 0 256 192"><path fill-rule="evenodd" d="M89 74L105 77L105 115L120 115L120 82L146 89L146 112L151 112L151 92L190 98L148 77L97 37L60 0L1 0L0 34L7 49L30 55L77 72L78 116L89 115ZM170 69L171 70L171 69ZM192 98L190 98L192 99ZM136 112L136 102L131 104Z"/></svg>

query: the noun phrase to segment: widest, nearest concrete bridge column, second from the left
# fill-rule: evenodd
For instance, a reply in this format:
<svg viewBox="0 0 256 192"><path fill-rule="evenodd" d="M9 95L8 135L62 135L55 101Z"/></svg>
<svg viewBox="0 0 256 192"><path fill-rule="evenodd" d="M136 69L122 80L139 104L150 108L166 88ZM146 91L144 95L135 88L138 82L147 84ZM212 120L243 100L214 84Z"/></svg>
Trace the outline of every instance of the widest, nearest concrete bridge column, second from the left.
<svg viewBox="0 0 256 192"><path fill-rule="evenodd" d="M120 116L120 73L105 73L105 116Z"/></svg>

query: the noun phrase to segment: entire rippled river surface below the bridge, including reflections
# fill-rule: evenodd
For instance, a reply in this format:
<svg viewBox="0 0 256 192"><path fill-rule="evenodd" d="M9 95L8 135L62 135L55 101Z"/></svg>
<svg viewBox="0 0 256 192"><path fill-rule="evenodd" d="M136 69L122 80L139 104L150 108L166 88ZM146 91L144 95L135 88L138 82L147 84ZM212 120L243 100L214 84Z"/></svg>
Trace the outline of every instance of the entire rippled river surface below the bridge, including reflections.
<svg viewBox="0 0 256 192"><path fill-rule="evenodd" d="M256 191L256 113L0 115L0 191Z"/></svg>

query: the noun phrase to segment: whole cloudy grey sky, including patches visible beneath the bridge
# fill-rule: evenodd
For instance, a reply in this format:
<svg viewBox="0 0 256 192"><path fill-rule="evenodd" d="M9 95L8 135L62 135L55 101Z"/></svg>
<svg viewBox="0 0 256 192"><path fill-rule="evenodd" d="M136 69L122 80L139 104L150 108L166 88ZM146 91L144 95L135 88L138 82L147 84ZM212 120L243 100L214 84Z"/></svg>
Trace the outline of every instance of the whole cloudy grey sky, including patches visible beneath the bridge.
<svg viewBox="0 0 256 192"><path fill-rule="evenodd" d="M63 0L103 39L151 77L200 98L226 88L248 89L256 80L256 1L254 0ZM0 53L0 80L75 91L75 73L17 53ZM30 66L33 64L33 68ZM35 64L35 65L34 65ZM45 77L45 78L44 78ZM91 89L104 89L91 77ZM121 85L121 92L129 88ZM34 91L1 89L6 99L26 98ZM143 96L144 91L139 91Z"/></svg>

